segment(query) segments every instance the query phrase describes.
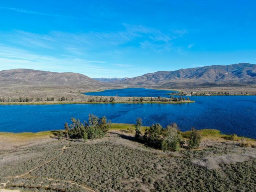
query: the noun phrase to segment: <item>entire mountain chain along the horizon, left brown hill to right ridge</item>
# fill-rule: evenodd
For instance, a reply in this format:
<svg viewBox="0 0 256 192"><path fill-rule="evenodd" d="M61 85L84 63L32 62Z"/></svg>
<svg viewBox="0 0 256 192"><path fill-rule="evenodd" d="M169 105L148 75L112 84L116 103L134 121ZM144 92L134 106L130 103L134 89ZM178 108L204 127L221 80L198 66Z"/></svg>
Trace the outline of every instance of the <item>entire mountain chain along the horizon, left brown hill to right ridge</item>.
<svg viewBox="0 0 256 192"><path fill-rule="evenodd" d="M79 87L200 87L255 86L256 65L238 63L205 67L158 71L134 78L90 78L79 73L57 73L31 69L0 71L1 86L79 86Z"/></svg>

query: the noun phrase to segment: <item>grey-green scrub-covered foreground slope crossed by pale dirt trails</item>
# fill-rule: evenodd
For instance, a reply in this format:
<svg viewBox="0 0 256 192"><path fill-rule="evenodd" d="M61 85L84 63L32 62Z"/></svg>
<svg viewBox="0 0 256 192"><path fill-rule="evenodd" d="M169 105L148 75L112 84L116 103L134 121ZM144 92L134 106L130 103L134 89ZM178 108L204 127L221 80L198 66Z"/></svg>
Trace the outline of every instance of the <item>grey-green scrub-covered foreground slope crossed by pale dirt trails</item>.
<svg viewBox="0 0 256 192"><path fill-rule="evenodd" d="M209 143L208 143L209 144ZM0 187L21 191L255 191L256 149L233 142L164 153L109 133L0 150Z"/></svg>

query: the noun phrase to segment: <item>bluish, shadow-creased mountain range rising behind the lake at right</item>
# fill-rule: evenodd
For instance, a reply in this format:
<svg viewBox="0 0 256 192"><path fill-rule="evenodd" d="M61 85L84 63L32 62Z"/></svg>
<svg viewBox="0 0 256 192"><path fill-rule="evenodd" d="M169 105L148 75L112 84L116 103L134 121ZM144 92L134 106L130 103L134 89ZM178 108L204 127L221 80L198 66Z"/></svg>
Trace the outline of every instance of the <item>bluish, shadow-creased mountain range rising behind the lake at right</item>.
<svg viewBox="0 0 256 192"><path fill-rule="evenodd" d="M256 85L256 65L238 63L158 71L113 83L131 86L243 86Z"/></svg>

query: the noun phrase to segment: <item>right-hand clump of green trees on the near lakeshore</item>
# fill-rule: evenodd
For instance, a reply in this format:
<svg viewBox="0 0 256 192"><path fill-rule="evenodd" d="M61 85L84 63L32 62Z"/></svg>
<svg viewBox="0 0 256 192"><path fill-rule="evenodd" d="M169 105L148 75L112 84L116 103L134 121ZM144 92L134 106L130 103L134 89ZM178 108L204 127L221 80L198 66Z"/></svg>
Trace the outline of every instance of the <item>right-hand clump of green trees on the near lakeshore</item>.
<svg viewBox="0 0 256 192"><path fill-rule="evenodd" d="M142 126L141 118L136 119L135 138L142 140L145 144L162 149L163 151L173 150L176 151L179 147L185 144L180 130L176 123L168 125L165 129L160 124L152 124L149 129L145 130L144 135L140 131ZM201 135L194 127L190 130L190 138L188 140L188 148L195 149L199 147Z"/></svg>

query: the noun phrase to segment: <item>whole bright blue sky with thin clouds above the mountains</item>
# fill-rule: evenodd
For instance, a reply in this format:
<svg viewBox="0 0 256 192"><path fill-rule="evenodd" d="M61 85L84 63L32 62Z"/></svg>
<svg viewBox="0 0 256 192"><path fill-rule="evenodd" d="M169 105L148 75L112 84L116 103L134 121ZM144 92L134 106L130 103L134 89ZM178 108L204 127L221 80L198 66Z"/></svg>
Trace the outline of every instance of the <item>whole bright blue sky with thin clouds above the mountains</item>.
<svg viewBox="0 0 256 192"><path fill-rule="evenodd" d="M89 77L256 64L254 0L1 0L0 70Z"/></svg>

